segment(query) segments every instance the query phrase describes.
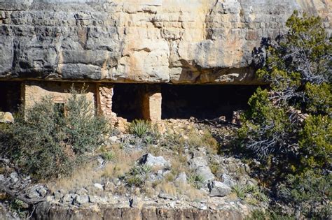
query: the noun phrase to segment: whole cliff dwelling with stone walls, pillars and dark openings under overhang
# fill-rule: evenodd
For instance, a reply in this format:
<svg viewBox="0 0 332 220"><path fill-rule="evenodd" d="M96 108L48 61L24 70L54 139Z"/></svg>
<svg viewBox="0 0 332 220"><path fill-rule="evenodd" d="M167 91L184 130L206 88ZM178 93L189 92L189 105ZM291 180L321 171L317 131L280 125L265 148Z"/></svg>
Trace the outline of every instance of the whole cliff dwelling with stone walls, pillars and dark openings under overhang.
<svg viewBox="0 0 332 220"><path fill-rule="evenodd" d="M23 103L30 108L43 96L65 105L70 90L84 88L92 107L106 117L122 117L131 122L146 119L214 119L247 108L256 85L170 85L81 82L0 82L2 111L16 112Z"/></svg>

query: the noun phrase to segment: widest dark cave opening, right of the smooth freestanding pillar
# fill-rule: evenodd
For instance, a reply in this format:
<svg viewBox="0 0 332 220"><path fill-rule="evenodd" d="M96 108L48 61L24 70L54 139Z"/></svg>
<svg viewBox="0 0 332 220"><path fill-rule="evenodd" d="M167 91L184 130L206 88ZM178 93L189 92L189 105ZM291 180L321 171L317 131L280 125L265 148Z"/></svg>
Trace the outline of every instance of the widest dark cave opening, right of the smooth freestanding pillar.
<svg viewBox="0 0 332 220"><path fill-rule="evenodd" d="M246 110L256 85L162 85L162 119L214 119Z"/></svg>

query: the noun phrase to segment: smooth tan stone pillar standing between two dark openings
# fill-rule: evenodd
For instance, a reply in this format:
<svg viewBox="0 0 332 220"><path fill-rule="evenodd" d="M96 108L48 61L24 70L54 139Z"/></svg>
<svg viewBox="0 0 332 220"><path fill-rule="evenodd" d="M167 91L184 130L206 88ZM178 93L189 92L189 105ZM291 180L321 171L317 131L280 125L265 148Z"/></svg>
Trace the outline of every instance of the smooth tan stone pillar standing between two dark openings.
<svg viewBox="0 0 332 220"><path fill-rule="evenodd" d="M161 101L160 86L147 85L142 96L142 115L145 120L161 120Z"/></svg>

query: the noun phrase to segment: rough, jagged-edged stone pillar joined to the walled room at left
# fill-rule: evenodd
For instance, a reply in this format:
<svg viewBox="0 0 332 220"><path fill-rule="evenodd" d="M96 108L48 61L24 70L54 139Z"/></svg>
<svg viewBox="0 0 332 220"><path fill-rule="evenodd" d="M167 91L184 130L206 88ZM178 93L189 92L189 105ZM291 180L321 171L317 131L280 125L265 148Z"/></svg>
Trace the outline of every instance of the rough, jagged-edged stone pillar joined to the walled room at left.
<svg viewBox="0 0 332 220"><path fill-rule="evenodd" d="M99 84L97 86L97 103L99 112L105 117L116 117L112 112L113 87L111 84Z"/></svg>

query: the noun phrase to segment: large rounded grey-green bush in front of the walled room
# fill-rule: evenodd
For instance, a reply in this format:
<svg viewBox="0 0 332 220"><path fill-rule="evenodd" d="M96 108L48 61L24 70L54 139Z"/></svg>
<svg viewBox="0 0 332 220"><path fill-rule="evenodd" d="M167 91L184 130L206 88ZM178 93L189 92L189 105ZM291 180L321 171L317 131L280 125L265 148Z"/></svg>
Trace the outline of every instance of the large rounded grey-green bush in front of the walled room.
<svg viewBox="0 0 332 220"><path fill-rule="evenodd" d="M106 120L95 115L85 96L72 91L65 105L52 99L46 96L21 112L1 138L3 156L37 179L70 175L108 131Z"/></svg>

